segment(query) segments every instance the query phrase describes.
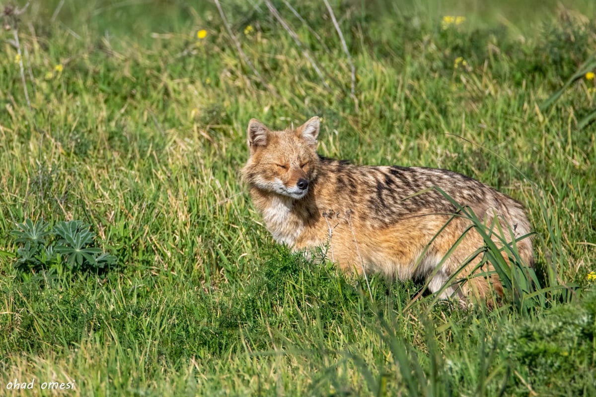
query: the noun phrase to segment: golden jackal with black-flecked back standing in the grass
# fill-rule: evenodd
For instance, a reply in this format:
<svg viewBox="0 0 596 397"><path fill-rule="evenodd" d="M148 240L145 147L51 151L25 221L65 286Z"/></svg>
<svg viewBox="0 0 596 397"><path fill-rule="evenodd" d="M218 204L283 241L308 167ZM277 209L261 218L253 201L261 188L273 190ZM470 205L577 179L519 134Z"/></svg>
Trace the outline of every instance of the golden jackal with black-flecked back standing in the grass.
<svg viewBox="0 0 596 397"><path fill-rule="evenodd" d="M512 232L516 239L530 233L519 202L452 171L367 167L321 157L318 134L318 117L284 131L250 120L250 158L243 176L277 242L294 250L321 247L344 270L423 278L433 293L459 271L442 298L488 298L489 283L502 294L497 276L472 274L493 271L490 265L474 270L485 242L436 187L491 227L498 246L503 239L511 242ZM531 239L517 241L517 249L531 265Z"/></svg>

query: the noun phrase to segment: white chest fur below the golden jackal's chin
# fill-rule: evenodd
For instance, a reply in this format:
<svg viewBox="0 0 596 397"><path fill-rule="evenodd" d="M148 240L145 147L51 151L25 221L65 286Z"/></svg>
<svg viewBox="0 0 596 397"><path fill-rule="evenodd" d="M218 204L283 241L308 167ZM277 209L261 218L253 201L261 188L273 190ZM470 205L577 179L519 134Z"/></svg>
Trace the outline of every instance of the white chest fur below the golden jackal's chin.
<svg viewBox="0 0 596 397"><path fill-rule="evenodd" d="M304 225L292 213L294 200L275 196L271 203L263 209L263 220L275 241L293 246L302 233Z"/></svg>

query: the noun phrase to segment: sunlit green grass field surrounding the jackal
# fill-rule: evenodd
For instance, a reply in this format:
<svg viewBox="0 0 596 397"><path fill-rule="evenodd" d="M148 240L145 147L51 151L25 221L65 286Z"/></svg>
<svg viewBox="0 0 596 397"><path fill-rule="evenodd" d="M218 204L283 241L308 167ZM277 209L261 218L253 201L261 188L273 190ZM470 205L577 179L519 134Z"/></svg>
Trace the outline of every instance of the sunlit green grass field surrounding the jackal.
<svg viewBox="0 0 596 397"><path fill-rule="evenodd" d="M596 395L594 2L295 3L2 6L0 395ZM369 296L277 246L246 126L313 115L522 202L538 290Z"/></svg>

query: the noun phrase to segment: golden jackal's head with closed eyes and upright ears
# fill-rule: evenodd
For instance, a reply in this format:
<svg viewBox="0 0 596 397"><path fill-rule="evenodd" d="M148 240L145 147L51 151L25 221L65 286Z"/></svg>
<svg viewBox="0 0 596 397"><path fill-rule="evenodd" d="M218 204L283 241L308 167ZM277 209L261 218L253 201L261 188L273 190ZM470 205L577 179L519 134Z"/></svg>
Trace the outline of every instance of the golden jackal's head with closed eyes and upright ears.
<svg viewBox="0 0 596 397"><path fill-rule="evenodd" d="M244 180L265 192L303 198L316 177L318 135L318 117L283 131L271 131L253 118L247 129L250 157L243 168Z"/></svg>

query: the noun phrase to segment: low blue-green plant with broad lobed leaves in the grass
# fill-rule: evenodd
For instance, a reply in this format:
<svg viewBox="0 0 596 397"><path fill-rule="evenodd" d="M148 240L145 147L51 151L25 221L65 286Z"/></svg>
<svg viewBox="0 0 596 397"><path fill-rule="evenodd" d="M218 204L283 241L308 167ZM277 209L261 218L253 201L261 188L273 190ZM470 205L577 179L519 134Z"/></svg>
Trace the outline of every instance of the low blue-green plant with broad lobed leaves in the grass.
<svg viewBox="0 0 596 397"><path fill-rule="evenodd" d="M26 219L11 232L16 236L15 267L21 271L58 269L66 264L70 271L107 270L116 257L97 248L95 233L80 220L61 221L50 228L44 220Z"/></svg>

